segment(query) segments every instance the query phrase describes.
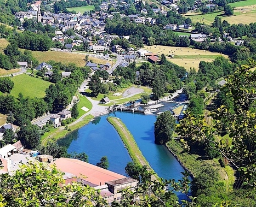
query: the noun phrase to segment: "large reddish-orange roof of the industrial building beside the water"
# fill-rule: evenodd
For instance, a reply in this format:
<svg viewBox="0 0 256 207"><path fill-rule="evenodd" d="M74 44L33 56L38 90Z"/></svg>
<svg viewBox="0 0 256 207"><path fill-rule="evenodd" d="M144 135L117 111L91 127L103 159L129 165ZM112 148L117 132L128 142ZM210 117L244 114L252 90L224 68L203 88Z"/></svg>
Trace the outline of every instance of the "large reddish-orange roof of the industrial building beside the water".
<svg viewBox="0 0 256 207"><path fill-rule="evenodd" d="M86 176L85 180L98 186L104 185L105 182L126 178L126 176L80 161L79 159L59 158L53 163L56 164L57 169L63 172L72 173L73 175L76 175L77 178Z"/></svg>

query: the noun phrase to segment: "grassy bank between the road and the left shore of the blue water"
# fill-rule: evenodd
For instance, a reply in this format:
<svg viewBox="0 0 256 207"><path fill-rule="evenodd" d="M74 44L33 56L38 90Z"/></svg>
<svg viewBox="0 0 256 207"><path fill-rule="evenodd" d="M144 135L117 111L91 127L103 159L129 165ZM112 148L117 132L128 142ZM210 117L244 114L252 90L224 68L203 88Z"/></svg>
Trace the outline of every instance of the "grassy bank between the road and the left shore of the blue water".
<svg viewBox="0 0 256 207"><path fill-rule="evenodd" d="M78 106L78 111L79 111L79 116L77 117L76 120L74 120L70 125L67 125L69 128L69 131L65 129L65 126L61 126L59 128L50 128L49 132L44 133L41 137L41 144L46 145L48 141L53 140L56 141L60 138L65 137L67 134L69 134L71 131L74 131L75 129L81 128L84 125L87 125L92 119L93 115L87 115L86 113L90 111L93 107L92 103L90 101L82 96L81 94L78 94L79 97L79 102L77 103ZM82 109L82 107L86 107L89 110L86 112Z"/></svg>

